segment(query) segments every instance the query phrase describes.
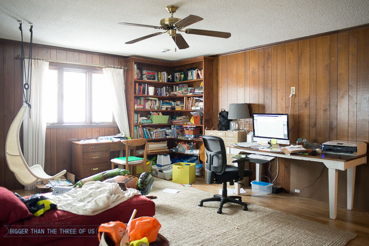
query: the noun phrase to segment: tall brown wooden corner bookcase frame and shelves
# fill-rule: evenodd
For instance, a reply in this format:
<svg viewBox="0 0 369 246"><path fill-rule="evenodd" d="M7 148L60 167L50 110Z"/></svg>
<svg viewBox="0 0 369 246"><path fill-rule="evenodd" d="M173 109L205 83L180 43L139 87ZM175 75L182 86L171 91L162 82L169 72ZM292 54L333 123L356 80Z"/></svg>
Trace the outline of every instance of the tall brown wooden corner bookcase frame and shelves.
<svg viewBox="0 0 369 246"><path fill-rule="evenodd" d="M130 126L131 137L134 136L134 128L137 126L142 127L171 127L172 125L180 126L185 124L137 124L135 123L135 113L140 114L140 116L147 116L150 114L150 111L160 112L162 115L170 115L170 116L189 116L190 119L192 117L191 113L197 110L190 109L182 109L182 110L162 110L162 109L144 109L139 108L135 109L135 99L138 98L157 98L158 100L173 100L173 101L182 101L183 103L187 100L190 101L191 98L197 97L203 99L203 115L201 124L196 124L192 126L200 127L200 133L204 133L205 128L213 127L213 57L199 56L195 58L190 58L186 60L180 61L162 61L162 60L154 60L154 59L146 59L141 57L129 57L126 59L127 61L127 80L126 80L126 98L127 98L127 111L128 111L128 119ZM178 82L161 82L161 81L152 81L152 80L142 80L135 79L134 77L134 69L135 64L137 67L141 68L142 71L155 71L155 72L166 72L167 74L171 74L174 78L174 72L183 71L187 72L187 70L198 68L202 69L202 78L201 79L193 79L186 81L178 81ZM141 72L142 72L141 71ZM146 84L146 85L145 85ZM154 86L155 89L162 88L165 86L179 86L181 84L188 84L189 87L200 87L202 86L202 94L195 95L176 95L176 96L159 96L159 95L140 95L138 93L137 88L141 85L145 86ZM143 86L142 86L143 87ZM167 87L166 87L167 88ZM140 91L141 88L140 88ZM156 92L156 90L155 90ZM148 92L144 90L143 94L148 94ZM155 93L156 94L156 93ZM191 99L192 100L192 99ZM168 141L168 147L175 147L178 142L196 142L198 147L202 145L201 139L194 140L181 140L178 138L163 138L163 139L148 139L150 142L155 141ZM173 152L173 151L160 151L150 154L158 154L158 153L177 153L177 154L185 154L182 152ZM193 154L192 154L193 155Z"/></svg>

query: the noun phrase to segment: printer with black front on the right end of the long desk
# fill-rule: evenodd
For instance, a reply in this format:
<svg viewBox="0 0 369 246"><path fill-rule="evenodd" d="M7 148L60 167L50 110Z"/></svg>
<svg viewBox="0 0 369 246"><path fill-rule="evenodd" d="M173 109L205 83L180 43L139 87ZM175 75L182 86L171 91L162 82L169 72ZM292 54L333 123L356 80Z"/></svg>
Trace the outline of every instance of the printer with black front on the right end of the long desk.
<svg viewBox="0 0 369 246"><path fill-rule="evenodd" d="M361 155L366 153L366 143L356 141L333 140L322 144L322 151L339 154Z"/></svg>

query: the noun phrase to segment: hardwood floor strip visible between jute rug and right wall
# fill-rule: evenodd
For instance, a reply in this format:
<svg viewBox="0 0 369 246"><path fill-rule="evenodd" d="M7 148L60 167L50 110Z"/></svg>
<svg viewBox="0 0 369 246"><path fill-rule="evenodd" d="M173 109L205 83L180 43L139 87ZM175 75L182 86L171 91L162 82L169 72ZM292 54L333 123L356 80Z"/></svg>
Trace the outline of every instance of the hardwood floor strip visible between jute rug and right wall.
<svg viewBox="0 0 369 246"><path fill-rule="evenodd" d="M196 178L194 188L217 194L221 185L208 185L203 178ZM232 188L232 186L229 186ZM251 196L251 187L244 188L247 193L242 194L242 201L256 204L283 213L292 214L309 219L324 225L356 233L356 237L347 243L348 246L369 245L369 213L357 210L347 210L337 207L337 218L329 218L329 204L304 198L288 193L269 194L264 196ZM206 197L204 197L206 198Z"/></svg>

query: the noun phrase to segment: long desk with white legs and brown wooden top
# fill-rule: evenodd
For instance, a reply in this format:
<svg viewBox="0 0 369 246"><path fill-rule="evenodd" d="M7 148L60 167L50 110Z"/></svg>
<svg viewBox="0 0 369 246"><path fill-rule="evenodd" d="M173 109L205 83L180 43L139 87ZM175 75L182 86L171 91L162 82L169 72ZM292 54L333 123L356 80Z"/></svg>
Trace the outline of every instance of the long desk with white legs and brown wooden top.
<svg viewBox="0 0 369 246"><path fill-rule="evenodd" d="M275 156L277 158L310 161L310 162L322 162L328 168L329 207L331 219L336 219L337 217L338 170L344 171L347 169L347 209L352 210L354 202L356 166L366 163L366 154L359 156L325 154L325 153L316 156L303 154L286 155L284 153L268 152L249 148L241 148L233 146L227 147L227 152L230 154L238 154L240 151ZM257 170L256 172L258 173L259 170ZM238 187L236 187L236 189L239 190Z"/></svg>

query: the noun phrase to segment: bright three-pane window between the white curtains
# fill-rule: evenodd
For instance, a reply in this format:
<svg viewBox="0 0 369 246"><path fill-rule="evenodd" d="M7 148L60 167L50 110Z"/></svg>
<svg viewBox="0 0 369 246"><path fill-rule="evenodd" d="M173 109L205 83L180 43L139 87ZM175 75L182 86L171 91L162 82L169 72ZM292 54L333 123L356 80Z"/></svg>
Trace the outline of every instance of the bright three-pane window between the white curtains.
<svg viewBox="0 0 369 246"><path fill-rule="evenodd" d="M48 124L113 123L108 88L103 73L50 67L45 85Z"/></svg>

